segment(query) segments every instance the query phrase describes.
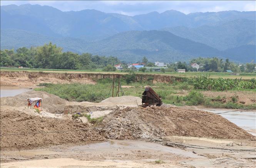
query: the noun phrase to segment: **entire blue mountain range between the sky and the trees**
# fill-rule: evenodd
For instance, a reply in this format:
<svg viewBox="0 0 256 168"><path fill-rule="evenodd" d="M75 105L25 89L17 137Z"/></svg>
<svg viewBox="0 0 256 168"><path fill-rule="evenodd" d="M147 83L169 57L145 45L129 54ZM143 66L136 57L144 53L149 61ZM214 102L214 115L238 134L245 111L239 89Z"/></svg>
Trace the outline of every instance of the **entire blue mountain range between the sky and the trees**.
<svg viewBox="0 0 256 168"><path fill-rule="evenodd" d="M97 10L62 12L40 5L1 6L1 49L57 44L64 51L120 60L187 61L229 58L255 61L256 12L184 14L175 10L127 16Z"/></svg>

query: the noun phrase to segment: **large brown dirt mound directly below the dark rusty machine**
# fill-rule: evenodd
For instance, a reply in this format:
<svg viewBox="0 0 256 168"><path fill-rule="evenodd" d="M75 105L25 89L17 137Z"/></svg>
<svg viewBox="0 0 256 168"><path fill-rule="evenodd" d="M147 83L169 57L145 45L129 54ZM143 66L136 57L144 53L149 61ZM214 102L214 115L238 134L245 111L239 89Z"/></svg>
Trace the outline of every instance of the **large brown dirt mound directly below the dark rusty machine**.
<svg viewBox="0 0 256 168"><path fill-rule="evenodd" d="M101 127L112 139L156 138L167 135L221 139L255 137L220 115L177 107L126 108L107 115ZM124 126L123 126L124 125ZM118 127L117 127L118 126Z"/></svg>

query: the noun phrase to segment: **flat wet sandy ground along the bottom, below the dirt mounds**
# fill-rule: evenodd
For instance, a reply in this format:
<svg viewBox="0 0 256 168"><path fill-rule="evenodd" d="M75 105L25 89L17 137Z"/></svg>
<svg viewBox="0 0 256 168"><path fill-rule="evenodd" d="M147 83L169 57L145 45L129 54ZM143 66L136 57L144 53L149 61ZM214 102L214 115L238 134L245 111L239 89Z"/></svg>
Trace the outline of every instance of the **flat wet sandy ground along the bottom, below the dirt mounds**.
<svg viewBox="0 0 256 168"><path fill-rule="evenodd" d="M254 167L255 142L196 137L162 137L162 142L110 140L1 152L1 167ZM240 144L243 146L239 146ZM238 145L237 145L238 144ZM199 147L200 146L200 147ZM218 148L218 149L214 149ZM161 164L155 161L161 160Z"/></svg>

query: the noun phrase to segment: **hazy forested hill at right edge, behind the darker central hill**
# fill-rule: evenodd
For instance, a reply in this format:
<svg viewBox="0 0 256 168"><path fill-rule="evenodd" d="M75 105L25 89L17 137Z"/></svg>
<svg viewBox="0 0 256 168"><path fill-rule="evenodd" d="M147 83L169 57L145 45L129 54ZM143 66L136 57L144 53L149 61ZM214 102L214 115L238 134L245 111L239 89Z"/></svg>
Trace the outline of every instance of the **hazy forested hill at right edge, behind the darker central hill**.
<svg viewBox="0 0 256 168"><path fill-rule="evenodd" d="M174 35L207 44L219 50L238 47L241 45L255 45L255 20L240 19L221 22L218 25L203 25L197 28L176 26L164 28Z"/></svg>

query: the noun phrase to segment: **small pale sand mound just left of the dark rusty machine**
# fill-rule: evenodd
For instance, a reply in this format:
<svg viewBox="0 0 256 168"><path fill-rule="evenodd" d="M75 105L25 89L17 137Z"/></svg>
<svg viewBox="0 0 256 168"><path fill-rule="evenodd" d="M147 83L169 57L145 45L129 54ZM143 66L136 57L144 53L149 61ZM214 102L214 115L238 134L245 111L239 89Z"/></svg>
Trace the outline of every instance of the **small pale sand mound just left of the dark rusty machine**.
<svg viewBox="0 0 256 168"><path fill-rule="evenodd" d="M113 103L113 104L141 104L141 98L135 96L121 96L121 97L109 97L102 100L101 103Z"/></svg>

